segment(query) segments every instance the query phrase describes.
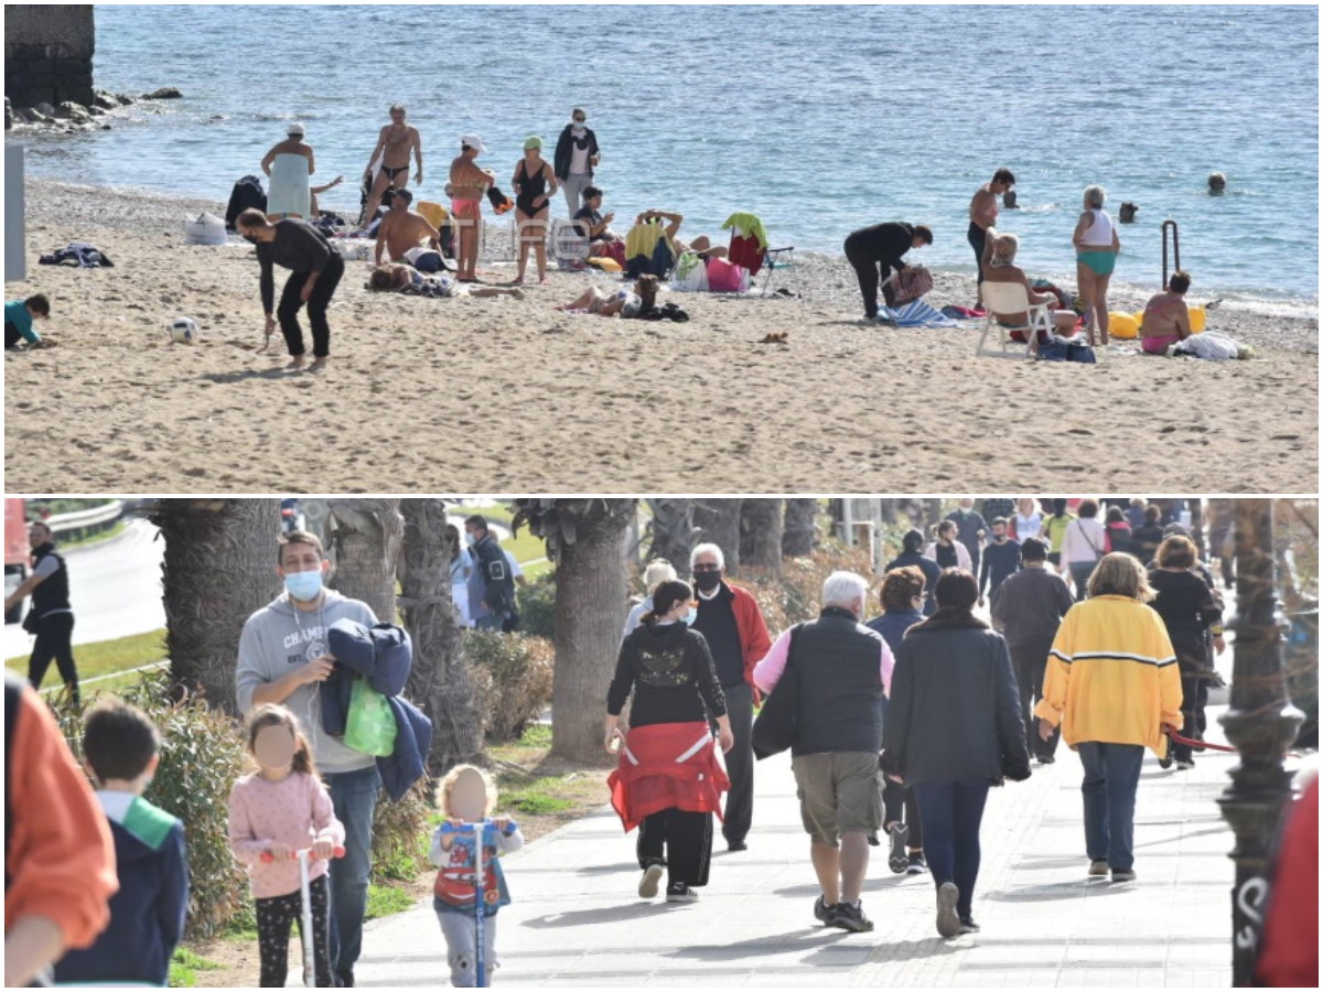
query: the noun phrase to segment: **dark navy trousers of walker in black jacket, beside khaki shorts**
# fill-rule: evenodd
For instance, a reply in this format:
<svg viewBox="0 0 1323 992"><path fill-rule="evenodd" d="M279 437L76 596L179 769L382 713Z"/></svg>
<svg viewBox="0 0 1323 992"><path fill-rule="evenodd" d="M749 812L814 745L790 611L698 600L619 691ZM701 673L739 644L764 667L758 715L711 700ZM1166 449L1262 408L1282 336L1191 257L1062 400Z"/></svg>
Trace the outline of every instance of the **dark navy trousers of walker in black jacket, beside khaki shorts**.
<svg viewBox="0 0 1323 992"><path fill-rule="evenodd" d="M933 882L955 882L960 898L955 903L960 919L970 915L974 884L979 878L979 825L988 800L988 779L921 782L914 786L918 813L923 821L923 856Z"/></svg>

